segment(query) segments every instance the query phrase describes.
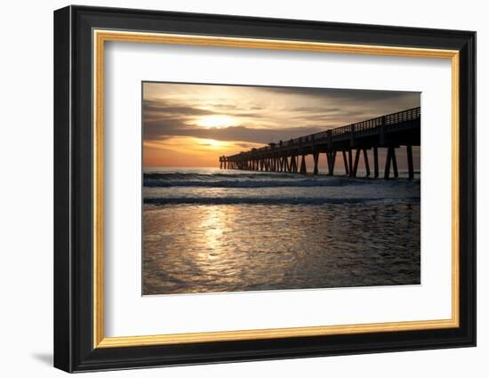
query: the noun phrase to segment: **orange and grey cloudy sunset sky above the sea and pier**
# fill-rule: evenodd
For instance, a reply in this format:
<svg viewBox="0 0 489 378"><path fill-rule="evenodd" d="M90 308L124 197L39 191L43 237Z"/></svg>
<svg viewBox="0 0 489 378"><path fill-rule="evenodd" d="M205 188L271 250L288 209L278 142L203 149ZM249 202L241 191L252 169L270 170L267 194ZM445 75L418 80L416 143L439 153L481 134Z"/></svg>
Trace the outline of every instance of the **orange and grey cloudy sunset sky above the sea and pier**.
<svg viewBox="0 0 489 378"><path fill-rule="evenodd" d="M169 83L142 92L148 168L219 166L222 155L421 105L419 92Z"/></svg>

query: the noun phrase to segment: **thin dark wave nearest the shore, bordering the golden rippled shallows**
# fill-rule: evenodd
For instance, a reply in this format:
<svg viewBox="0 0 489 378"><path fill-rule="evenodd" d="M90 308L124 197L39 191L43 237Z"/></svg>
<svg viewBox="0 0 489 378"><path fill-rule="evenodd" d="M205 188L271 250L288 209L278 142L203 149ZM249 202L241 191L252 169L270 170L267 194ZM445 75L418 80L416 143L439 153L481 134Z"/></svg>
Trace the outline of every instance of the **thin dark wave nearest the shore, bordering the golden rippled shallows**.
<svg viewBox="0 0 489 378"><path fill-rule="evenodd" d="M420 197L146 197L146 205L327 205L372 202L419 203Z"/></svg>

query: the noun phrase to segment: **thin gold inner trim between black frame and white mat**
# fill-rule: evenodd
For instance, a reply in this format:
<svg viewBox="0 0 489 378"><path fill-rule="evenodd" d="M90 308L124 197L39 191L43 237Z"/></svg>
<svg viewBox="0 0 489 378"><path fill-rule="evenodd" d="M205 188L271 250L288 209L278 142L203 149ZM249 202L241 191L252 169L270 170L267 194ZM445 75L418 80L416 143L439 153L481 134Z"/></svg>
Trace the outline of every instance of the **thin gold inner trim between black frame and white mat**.
<svg viewBox="0 0 489 378"><path fill-rule="evenodd" d="M93 35L93 348L134 347L190 342L225 342L333 334L365 334L458 327L459 317L459 52L365 44L329 44L227 36L189 36L94 29ZM448 59L452 63L452 318L340 326L304 326L191 334L105 337L103 332L103 89L106 41L186 44L303 52L355 53Z"/></svg>

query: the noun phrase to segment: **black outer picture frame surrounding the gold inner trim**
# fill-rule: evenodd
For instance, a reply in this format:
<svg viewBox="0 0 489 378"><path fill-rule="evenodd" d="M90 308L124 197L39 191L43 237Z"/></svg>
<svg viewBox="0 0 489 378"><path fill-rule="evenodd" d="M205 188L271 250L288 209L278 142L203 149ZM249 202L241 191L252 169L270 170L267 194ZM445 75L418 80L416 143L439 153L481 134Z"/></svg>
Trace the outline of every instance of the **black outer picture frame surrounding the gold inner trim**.
<svg viewBox="0 0 489 378"><path fill-rule="evenodd" d="M93 348L92 30L375 44L460 52L460 326ZM54 366L67 372L476 345L476 33L68 6L54 12Z"/></svg>

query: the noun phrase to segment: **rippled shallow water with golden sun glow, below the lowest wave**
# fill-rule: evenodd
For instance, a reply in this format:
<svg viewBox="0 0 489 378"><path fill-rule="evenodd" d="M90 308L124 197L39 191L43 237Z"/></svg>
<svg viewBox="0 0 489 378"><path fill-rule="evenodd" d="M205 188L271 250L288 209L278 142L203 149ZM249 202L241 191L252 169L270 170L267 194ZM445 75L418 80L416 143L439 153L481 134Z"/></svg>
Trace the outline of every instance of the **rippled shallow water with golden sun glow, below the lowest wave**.
<svg viewBox="0 0 489 378"><path fill-rule="evenodd" d="M401 233L393 245L390 232L399 224L419 230L419 205L363 210L362 205L145 206L143 293L419 283L419 238Z"/></svg>

